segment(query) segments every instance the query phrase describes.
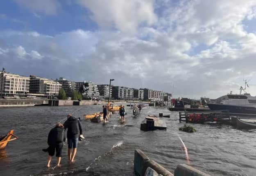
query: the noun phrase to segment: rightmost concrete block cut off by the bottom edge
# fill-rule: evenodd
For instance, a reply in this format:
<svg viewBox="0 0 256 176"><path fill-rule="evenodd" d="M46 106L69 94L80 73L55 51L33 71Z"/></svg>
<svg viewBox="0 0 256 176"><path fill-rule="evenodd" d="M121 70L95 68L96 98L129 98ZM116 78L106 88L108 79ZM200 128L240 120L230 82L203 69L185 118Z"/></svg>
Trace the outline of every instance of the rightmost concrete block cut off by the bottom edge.
<svg viewBox="0 0 256 176"><path fill-rule="evenodd" d="M178 165L174 171L174 176L210 176L188 165Z"/></svg>

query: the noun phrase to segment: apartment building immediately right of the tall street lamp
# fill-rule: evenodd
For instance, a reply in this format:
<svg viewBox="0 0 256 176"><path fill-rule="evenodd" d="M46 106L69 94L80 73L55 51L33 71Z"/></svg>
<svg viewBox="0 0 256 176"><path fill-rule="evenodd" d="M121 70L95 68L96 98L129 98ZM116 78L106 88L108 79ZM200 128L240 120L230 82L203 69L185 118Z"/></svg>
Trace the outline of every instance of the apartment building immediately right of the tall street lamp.
<svg viewBox="0 0 256 176"><path fill-rule="evenodd" d="M112 97L114 99L133 99L134 89L122 86L113 86Z"/></svg>

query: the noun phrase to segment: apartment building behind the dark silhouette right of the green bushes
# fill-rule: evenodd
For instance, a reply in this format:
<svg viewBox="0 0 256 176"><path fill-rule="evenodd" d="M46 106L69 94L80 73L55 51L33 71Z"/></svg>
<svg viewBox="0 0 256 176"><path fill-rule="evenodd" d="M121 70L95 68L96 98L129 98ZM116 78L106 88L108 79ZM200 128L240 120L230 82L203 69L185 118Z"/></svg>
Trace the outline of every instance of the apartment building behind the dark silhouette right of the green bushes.
<svg viewBox="0 0 256 176"><path fill-rule="evenodd" d="M82 93L86 98L98 98L100 96L96 83L91 81L76 82L76 90Z"/></svg>

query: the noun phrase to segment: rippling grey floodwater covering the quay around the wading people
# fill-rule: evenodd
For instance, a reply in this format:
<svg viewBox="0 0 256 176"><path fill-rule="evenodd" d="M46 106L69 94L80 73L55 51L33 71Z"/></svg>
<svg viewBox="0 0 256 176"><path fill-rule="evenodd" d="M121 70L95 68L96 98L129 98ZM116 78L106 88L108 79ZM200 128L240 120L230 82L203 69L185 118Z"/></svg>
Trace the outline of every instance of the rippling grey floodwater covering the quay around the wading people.
<svg viewBox="0 0 256 176"><path fill-rule="evenodd" d="M91 106L35 106L0 108L0 135L10 129L18 135L4 151L0 151L0 173L4 175L83 175L133 176L134 149L141 149L151 160L159 162L171 172L178 164L186 164L186 156L178 135L184 141L190 165L214 176L253 176L256 173L256 131L240 131L229 125L192 124L196 133L179 131L179 113L165 108L143 108L139 117L132 118L126 107L125 124L120 124L118 114L109 122L85 121L84 114L101 111L101 105ZM68 113L82 117L86 140L79 142L76 162L69 164L67 144L63 146L62 167L46 168L47 136L55 122L63 120ZM140 122L146 115L171 114L163 117L166 131L140 131Z"/></svg>

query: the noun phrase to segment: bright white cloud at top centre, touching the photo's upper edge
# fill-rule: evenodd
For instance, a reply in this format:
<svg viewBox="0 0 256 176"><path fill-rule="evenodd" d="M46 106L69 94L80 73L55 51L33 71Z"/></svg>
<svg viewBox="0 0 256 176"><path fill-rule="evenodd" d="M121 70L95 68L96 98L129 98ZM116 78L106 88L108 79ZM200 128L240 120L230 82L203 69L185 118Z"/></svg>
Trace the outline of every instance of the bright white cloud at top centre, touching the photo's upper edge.
<svg viewBox="0 0 256 176"><path fill-rule="evenodd" d="M101 27L122 32L136 32L140 25L153 25L157 21L153 0L77 0L92 12L91 18Z"/></svg>

